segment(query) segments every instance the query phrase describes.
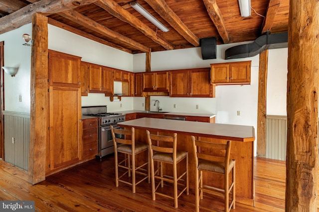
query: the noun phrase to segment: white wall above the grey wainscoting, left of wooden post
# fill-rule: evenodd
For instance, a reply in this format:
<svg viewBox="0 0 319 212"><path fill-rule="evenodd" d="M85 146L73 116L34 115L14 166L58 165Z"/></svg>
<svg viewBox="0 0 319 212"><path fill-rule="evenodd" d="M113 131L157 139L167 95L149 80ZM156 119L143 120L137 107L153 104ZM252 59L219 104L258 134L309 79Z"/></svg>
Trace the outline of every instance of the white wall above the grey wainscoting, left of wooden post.
<svg viewBox="0 0 319 212"><path fill-rule="evenodd" d="M30 113L31 47L22 45L25 33L31 35L31 24L0 35L0 41L4 41L4 66L18 67L15 77L4 73L4 110Z"/></svg>

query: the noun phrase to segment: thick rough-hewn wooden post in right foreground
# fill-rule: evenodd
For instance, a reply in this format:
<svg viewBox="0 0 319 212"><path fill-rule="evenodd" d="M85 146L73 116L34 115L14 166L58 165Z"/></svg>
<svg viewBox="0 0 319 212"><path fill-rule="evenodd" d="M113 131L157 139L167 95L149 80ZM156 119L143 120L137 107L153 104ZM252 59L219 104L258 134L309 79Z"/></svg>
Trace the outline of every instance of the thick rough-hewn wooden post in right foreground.
<svg viewBox="0 0 319 212"><path fill-rule="evenodd" d="M290 0L286 212L317 212L318 12L318 0Z"/></svg>

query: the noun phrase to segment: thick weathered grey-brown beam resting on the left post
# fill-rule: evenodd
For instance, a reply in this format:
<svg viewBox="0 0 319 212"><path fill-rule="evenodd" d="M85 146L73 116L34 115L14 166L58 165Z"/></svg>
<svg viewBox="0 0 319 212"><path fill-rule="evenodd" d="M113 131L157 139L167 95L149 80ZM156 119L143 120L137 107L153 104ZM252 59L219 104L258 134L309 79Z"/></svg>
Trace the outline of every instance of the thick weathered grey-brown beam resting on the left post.
<svg viewBox="0 0 319 212"><path fill-rule="evenodd" d="M40 0L0 18L0 34L31 23L33 13L50 15L93 3L96 0Z"/></svg>

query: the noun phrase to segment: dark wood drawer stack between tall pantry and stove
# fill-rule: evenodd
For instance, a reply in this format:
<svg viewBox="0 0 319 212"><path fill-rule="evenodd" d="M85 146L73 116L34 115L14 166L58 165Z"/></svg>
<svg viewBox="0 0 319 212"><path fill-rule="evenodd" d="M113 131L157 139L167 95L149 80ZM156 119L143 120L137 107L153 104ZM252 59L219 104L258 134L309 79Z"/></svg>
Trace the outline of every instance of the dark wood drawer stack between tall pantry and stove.
<svg viewBox="0 0 319 212"><path fill-rule="evenodd" d="M83 160L95 158L98 153L98 119L83 120Z"/></svg>

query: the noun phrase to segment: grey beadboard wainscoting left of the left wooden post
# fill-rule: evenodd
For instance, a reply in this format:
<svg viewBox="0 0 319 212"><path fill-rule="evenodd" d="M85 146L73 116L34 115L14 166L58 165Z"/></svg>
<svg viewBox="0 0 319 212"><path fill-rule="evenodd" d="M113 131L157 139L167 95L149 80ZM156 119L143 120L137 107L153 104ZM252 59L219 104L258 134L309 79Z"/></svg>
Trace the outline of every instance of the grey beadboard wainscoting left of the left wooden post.
<svg viewBox="0 0 319 212"><path fill-rule="evenodd" d="M4 160L28 170L30 114L3 111Z"/></svg>

